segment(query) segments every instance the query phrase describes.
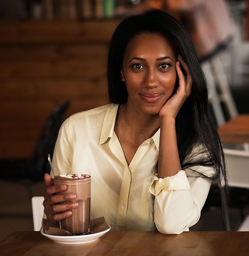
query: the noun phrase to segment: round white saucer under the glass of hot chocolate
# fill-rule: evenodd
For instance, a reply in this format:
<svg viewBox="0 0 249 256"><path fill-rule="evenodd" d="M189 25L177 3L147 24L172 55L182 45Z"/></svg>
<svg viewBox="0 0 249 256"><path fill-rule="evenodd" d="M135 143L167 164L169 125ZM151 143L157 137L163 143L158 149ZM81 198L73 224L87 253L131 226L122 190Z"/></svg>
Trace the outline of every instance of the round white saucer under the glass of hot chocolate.
<svg viewBox="0 0 249 256"><path fill-rule="evenodd" d="M108 225L109 226L109 225ZM74 244L84 244L84 243L90 243L101 236L103 236L105 233L107 233L111 229L111 226L109 226L109 229L106 229L104 231L89 234L89 235L82 235L82 236L54 236L54 235L48 235L44 233L44 230L41 230L41 234L43 236L47 236L47 238L55 241L56 243L60 244L68 244L68 245L74 245Z"/></svg>

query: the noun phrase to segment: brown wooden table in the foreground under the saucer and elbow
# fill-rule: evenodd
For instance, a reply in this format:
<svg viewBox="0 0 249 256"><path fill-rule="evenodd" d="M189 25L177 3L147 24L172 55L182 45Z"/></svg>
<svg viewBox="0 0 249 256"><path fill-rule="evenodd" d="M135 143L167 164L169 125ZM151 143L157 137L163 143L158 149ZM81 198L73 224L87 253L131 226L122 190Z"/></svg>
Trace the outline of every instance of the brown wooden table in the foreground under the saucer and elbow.
<svg viewBox="0 0 249 256"><path fill-rule="evenodd" d="M164 235L157 231L109 231L92 243L64 245L39 231L16 231L0 243L0 255L248 256L249 232L189 231Z"/></svg>

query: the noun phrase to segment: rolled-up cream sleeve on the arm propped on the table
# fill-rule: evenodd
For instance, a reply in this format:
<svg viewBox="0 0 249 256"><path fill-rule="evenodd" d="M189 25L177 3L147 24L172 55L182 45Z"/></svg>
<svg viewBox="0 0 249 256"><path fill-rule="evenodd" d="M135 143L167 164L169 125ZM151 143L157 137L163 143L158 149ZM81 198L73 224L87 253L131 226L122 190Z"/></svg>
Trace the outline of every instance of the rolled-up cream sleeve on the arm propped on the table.
<svg viewBox="0 0 249 256"><path fill-rule="evenodd" d="M198 222L211 184L193 170L214 174L212 167L193 166L171 177L153 177L149 191L155 195L154 221L161 233L180 234Z"/></svg>

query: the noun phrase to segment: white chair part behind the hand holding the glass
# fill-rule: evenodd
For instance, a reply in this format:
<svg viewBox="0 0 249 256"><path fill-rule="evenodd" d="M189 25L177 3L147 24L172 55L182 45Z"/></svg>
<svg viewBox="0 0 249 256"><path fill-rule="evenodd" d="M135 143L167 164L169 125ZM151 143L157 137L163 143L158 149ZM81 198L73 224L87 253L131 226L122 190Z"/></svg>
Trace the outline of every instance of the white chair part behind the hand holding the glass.
<svg viewBox="0 0 249 256"><path fill-rule="evenodd" d="M34 196L32 198L34 231L40 231L40 228L42 227L42 218L44 213L43 201L43 196Z"/></svg>

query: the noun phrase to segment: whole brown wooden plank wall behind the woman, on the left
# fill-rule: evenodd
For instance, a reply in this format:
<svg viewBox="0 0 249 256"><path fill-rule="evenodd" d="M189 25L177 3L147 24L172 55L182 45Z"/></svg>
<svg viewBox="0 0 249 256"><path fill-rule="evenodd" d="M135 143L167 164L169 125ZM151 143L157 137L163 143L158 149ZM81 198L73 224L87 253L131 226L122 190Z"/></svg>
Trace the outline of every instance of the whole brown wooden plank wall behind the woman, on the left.
<svg viewBox="0 0 249 256"><path fill-rule="evenodd" d="M0 22L0 159L31 155L56 106L108 103L107 52L120 20Z"/></svg>

